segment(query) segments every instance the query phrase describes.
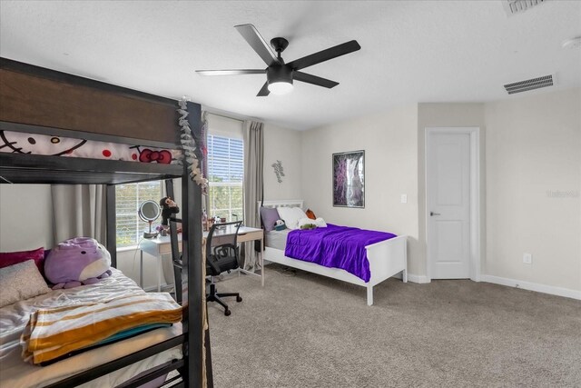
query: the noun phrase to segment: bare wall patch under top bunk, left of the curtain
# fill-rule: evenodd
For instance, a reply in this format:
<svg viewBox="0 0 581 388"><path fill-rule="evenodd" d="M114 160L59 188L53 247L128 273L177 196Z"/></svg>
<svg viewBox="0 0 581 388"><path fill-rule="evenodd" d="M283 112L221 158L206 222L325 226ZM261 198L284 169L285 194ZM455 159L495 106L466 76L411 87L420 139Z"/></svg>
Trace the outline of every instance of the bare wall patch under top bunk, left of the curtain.
<svg viewBox="0 0 581 388"><path fill-rule="evenodd" d="M0 251L53 247L53 203L48 184L0 184Z"/></svg>

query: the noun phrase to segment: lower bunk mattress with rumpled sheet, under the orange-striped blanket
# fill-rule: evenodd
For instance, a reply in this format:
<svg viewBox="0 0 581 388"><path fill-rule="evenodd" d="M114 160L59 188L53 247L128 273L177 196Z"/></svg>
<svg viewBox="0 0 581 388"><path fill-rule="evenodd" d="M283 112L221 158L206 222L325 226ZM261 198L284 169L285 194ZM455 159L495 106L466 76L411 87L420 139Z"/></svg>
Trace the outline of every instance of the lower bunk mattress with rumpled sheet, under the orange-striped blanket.
<svg viewBox="0 0 581 388"><path fill-rule="evenodd" d="M11 388L43 387L155 343L161 343L182 333L182 325L177 323L171 327L155 329L118 343L77 354L48 366L25 363L21 357L22 347L19 339L30 313L35 308L89 303L113 295L145 293L121 271L114 268L112 271L112 276L97 284L83 285L68 290L55 290L0 308L0 386ZM81 386L85 388L115 386L148 369L180 358L182 358L182 348L177 346Z"/></svg>

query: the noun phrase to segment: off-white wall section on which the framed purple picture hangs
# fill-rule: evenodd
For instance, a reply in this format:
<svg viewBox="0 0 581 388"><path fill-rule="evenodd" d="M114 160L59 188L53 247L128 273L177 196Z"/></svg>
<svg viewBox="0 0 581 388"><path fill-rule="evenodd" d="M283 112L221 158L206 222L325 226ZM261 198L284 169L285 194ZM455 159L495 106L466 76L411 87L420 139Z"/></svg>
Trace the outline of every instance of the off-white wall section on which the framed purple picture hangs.
<svg viewBox="0 0 581 388"><path fill-rule="evenodd" d="M418 255L418 108L409 105L301 133L302 197L331 224L406 234L409 273ZM365 150L365 208L333 207L333 153ZM400 203L408 194L408 204Z"/></svg>

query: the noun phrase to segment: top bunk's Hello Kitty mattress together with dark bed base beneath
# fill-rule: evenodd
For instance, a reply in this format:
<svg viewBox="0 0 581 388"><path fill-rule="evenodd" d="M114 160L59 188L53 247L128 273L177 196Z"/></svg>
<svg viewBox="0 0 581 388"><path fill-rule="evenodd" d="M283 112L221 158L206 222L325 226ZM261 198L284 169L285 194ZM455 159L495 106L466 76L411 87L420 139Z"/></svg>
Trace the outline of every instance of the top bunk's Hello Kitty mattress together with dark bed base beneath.
<svg viewBox="0 0 581 388"><path fill-rule="evenodd" d="M0 122L0 183L127 184L179 178L182 154L173 148L174 144L141 139ZM159 163L152 154L153 159L162 154L167 160Z"/></svg>

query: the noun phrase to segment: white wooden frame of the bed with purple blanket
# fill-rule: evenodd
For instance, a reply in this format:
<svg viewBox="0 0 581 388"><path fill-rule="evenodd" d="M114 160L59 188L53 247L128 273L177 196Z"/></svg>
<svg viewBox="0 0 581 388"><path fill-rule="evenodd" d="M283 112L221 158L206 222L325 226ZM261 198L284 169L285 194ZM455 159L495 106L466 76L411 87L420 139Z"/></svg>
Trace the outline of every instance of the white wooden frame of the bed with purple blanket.
<svg viewBox="0 0 581 388"><path fill-rule="evenodd" d="M300 207L302 200L264 201L264 207ZM259 202L259 209L261 203ZM304 210L304 209L303 209ZM260 211L260 210L259 210ZM292 259L284 255L284 251L271 247L264 248L264 260L272 263L287 265L313 274L321 274L350 284L357 284L367 288L367 304L373 304L373 286L380 284L389 277L401 273L404 283L408 282L407 236L399 235L389 240L370 244L367 249L369 271L371 278L365 283L359 277L339 268L328 268L319 264Z"/></svg>

